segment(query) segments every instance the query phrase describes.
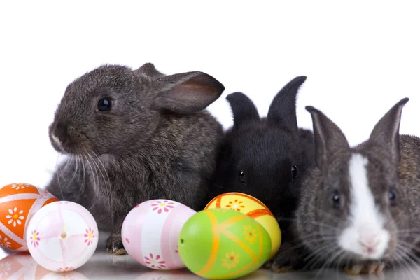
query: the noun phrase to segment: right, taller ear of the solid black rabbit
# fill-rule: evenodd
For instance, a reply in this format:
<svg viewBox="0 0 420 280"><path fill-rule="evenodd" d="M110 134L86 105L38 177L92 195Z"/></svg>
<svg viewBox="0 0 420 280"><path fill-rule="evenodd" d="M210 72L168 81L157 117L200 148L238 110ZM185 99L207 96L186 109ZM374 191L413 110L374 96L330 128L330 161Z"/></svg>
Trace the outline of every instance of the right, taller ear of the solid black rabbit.
<svg viewBox="0 0 420 280"><path fill-rule="evenodd" d="M306 79L305 76L296 77L277 93L269 106L267 114L269 125L290 130L297 135L296 96L297 90Z"/></svg>

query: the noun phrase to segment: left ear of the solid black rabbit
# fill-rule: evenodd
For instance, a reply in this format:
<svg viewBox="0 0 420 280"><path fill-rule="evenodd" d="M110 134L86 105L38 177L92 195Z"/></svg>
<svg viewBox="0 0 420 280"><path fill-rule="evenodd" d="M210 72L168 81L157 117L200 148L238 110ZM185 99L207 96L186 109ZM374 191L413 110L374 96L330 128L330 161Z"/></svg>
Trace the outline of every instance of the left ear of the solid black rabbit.
<svg viewBox="0 0 420 280"><path fill-rule="evenodd" d="M226 99L232 108L233 126L235 128L239 128L246 123L260 120L257 107L252 100L242 92L231 93Z"/></svg>

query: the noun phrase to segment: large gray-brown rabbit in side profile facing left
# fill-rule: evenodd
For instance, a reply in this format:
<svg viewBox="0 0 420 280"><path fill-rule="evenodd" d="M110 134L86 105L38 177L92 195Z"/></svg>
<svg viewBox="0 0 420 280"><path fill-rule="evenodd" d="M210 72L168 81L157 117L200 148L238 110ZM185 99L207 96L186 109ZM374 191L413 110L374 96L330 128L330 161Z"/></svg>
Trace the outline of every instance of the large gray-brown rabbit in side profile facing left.
<svg viewBox="0 0 420 280"><path fill-rule="evenodd" d="M68 158L47 190L89 209L111 232L107 251L125 254L121 226L137 204L206 204L223 128L204 109L224 90L207 73L167 76L151 63L85 73L66 88L50 125L52 146Z"/></svg>

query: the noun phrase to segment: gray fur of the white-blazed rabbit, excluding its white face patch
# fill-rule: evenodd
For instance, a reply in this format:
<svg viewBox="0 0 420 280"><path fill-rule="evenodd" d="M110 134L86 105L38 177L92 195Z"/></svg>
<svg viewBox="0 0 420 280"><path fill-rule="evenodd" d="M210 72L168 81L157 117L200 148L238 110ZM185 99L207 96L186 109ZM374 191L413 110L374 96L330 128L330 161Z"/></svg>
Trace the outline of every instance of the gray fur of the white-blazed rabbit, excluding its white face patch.
<svg viewBox="0 0 420 280"><path fill-rule="evenodd" d="M270 263L272 269L358 265L371 273L381 264L407 264L416 259L414 253L420 237L420 138L399 134L402 108L407 102L405 98L395 104L375 125L370 138L352 148L335 123L321 111L307 106L314 125L316 167L303 179L305 187L293 222L294 239L283 244ZM362 259L350 252L335 255L339 252L337 238L349 218L352 153L361 153L368 159L370 190L391 234L381 260ZM389 200L390 190L395 193L394 202ZM336 191L339 208L332 205Z"/></svg>

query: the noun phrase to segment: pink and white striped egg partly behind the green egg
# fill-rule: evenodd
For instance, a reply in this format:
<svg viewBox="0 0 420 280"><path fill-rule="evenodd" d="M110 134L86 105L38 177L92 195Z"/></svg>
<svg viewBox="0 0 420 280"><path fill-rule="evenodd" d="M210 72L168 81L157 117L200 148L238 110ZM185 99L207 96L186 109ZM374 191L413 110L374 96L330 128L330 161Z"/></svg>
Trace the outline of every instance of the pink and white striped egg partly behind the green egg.
<svg viewBox="0 0 420 280"><path fill-rule="evenodd" d="M152 269L185 267L178 250L179 232L196 213L172 200L148 200L127 214L122 229L125 251Z"/></svg>

